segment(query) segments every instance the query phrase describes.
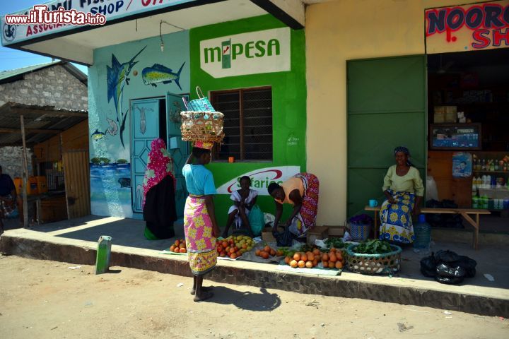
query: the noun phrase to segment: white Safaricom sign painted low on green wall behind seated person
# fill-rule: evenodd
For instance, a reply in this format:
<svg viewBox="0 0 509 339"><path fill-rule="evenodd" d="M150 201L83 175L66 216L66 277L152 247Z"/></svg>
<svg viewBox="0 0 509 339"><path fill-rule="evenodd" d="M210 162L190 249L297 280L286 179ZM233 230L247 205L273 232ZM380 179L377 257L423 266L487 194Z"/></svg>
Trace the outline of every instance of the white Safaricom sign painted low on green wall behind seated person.
<svg viewBox="0 0 509 339"><path fill-rule="evenodd" d="M240 174L231 179L226 184L221 185L216 190L218 194L232 194L233 191L240 189L240 178L247 176L251 179L251 189L258 191L258 195L268 196L267 188L269 184L275 182L281 184L286 179L293 177L300 172L299 166L276 166L255 169L254 171Z"/></svg>

